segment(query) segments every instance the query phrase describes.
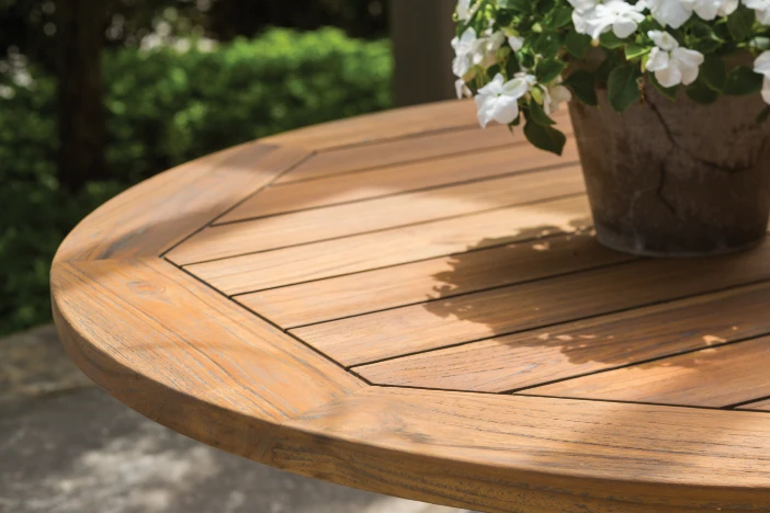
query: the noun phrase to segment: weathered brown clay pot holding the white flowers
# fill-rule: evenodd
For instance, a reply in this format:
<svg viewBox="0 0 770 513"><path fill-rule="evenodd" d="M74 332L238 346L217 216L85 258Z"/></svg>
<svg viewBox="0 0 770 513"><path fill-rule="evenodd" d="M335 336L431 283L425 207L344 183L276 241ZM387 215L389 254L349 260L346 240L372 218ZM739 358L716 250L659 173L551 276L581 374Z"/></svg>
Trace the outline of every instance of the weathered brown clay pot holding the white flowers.
<svg viewBox="0 0 770 513"><path fill-rule="evenodd" d="M757 244L770 213L770 123L759 94L703 106L652 84L622 115L570 113L599 240L641 255L721 254Z"/></svg>

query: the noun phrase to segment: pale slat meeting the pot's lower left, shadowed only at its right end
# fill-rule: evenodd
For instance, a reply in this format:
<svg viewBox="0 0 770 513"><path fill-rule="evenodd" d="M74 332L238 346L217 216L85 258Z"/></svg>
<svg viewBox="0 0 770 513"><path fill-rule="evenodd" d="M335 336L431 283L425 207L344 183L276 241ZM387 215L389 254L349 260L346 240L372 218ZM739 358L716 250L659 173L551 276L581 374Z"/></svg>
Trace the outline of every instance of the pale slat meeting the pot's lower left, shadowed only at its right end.
<svg viewBox="0 0 770 513"><path fill-rule="evenodd" d="M190 265L191 273L228 295L397 265L500 246L590 224L584 196L520 205L340 240Z"/></svg>

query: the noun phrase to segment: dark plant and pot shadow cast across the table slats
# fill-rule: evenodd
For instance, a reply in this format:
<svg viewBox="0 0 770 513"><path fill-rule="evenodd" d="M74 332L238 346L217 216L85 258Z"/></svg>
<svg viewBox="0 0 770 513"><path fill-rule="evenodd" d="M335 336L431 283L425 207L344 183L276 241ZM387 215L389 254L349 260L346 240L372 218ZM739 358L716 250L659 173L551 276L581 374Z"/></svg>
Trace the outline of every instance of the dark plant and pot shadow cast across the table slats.
<svg viewBox="0 0 770 513"><path fill-rule="evenodd" d="M731 289L758 280L745 270L767 256L770 243L754 253L690 261L621 259L585 235L514 243L486 262L497 284L473 292L478 249L505 242L484 239L453 255L451 271L433 276L439 285L424 308L446 319L450 331L456 326L466 340L477 340L438 354L449 362L431 376L442 388L517 391L644 363L619 377L634 387L639 373L657 373L669 381L650 389L663 392L677 379L692 380L691 371L713 368L722 357L714 347L770 332L762 314L768 287ZM565 261L576 265L565 269ZM522 269L533 280L521 282ZM704 307L699 297L709 293L716 294ZM693 354L667 358L684 353ZM448 371L453 366L455 376ZM661 372L668 367L691 371ZM695 379L707 380L706 373ZM630 389L619 396L635 394L647 400Z"/></svg>

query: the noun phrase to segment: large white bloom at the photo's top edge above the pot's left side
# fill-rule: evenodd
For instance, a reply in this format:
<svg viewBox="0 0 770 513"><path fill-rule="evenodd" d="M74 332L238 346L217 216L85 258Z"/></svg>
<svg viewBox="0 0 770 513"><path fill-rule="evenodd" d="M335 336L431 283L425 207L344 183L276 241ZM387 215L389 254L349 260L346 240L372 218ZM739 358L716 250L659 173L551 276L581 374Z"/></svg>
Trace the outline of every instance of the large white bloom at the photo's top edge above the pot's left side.
<svg viewBox="0 0 770 513"><path fill-rule="evenodd" d="M593 0L569 1L576 8L573 12L575 30L595 39L610 30L624 39L636 32L639 23L644 21L642 11L646 8L646 3L643 1L634 5L624 0L608 0L603 3Z"/></svg>

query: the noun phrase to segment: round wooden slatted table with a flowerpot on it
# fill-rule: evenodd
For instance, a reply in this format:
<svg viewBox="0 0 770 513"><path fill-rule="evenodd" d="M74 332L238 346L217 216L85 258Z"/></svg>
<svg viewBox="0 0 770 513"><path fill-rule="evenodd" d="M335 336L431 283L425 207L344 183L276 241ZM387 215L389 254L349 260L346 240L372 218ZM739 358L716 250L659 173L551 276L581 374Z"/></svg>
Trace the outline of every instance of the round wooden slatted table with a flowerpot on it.
<svg viewBox="0 0 770 513"><path fill-rule="evenodd" d="M131 408L293 472L491 512L770 511L770 243L641 260L590 223L574 140L392 111L102 206L56 256L56 323Z"/></svg>

